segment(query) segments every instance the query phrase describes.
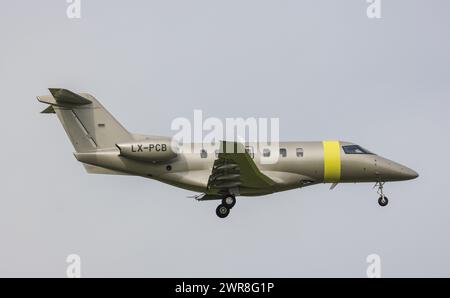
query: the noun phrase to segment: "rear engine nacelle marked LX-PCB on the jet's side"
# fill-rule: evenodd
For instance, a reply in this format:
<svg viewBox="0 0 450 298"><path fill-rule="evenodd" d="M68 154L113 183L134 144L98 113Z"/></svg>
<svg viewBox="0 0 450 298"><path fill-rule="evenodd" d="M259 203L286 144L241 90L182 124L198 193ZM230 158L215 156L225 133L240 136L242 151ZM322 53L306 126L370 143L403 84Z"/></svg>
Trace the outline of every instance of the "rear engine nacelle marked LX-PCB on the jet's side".
<svg viewBox="0 0 450 298"><path fill-rule="evenodd" d="M148 162L168 161L177 156L172 150L170 140L144 140L140 142L117 144L120 156Z"/></svg>

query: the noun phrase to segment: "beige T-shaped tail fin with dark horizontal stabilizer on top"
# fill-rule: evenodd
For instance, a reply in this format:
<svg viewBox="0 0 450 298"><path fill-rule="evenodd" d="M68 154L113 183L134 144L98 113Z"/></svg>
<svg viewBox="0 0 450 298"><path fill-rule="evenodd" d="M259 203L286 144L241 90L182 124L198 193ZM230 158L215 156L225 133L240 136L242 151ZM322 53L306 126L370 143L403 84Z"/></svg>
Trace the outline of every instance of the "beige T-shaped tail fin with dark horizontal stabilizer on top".
<svg viewBox="0 0 450 298"><path fill-rule="evenodd" d="M51 96L37 99L49 104L42 113L56 113L76 152L114 148L133 136L90 94L50 88Z"/></svg>

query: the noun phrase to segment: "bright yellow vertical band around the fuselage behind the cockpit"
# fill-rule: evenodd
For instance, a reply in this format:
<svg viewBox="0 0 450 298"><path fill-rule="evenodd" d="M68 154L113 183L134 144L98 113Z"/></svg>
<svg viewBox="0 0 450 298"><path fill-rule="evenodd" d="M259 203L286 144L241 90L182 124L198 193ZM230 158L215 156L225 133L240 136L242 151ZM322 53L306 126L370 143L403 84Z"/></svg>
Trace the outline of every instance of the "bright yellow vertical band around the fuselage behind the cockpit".
<svg viewBox="0 0 450 298"><path fill-rule="evenodd" d="M323 142L324 181L341 180L341 145L339 141Z"/></svg>

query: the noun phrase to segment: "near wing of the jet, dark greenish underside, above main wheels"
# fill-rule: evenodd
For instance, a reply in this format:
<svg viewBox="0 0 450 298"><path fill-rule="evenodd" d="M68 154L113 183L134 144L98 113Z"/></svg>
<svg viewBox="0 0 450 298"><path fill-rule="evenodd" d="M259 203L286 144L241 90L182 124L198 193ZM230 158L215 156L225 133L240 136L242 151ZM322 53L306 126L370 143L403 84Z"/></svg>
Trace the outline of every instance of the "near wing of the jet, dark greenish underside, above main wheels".
<svg viewBox="0 0 450 298"><path fill-rule="evenodd" d="M208 190L227 193L233 189L264 189L275 185L261 173L241 143L223 141L219 152L208 180Z"/></svg>

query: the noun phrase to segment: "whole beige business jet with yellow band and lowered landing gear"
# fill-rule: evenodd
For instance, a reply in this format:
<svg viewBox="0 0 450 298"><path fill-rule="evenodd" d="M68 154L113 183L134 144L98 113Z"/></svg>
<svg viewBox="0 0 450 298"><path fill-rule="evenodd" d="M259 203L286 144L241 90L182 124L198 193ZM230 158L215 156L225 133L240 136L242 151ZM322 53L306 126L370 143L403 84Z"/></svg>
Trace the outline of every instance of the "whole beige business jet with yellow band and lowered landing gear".
<svg viewBox="0 0 450 298"><path fill-rule="evenodd" d="M220 218L229 215L236 196L260 196L318 183L373 182L380 195L378 203L388 204L383 185L388 181L410 180L418 174L359 145L340 142L280 142L277 152L255 150L221 142L194 144L200 150L174 150L169 137L129 133L90 94L66 89L49 89L38 96L49 106L42 113L56 113L70 141L75 157L88 173L135 175L201 193L197 200L220 200ZM278 154L276 163L263 158Z"/></svg>

